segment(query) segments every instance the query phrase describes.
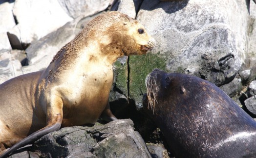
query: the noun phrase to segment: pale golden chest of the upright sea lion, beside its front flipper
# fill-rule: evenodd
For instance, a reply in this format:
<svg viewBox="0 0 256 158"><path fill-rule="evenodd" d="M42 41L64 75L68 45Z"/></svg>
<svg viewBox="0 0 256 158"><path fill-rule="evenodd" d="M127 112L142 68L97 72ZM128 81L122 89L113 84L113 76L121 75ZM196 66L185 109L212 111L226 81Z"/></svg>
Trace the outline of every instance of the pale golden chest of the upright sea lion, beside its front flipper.
<svg viewBox="0 0 256 158"><path fill-rule="evenodd" d="M92 63L84 71L74 69L61 90L66 126L95 123L107 105L112 82L112 66Z"/></svg>

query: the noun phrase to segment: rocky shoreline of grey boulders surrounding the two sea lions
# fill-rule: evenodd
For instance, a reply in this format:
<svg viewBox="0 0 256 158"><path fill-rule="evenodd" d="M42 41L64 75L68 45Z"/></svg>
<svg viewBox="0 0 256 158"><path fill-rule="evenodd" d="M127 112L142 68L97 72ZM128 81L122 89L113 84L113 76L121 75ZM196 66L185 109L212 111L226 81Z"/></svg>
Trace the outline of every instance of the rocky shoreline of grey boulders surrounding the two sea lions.
<svg viewBox="0 0 256 158"><path fill-rule="evenodd" d="M164 144L164 140L152 138L160 137L159 133L152 134L156 126L142 109L142 96L146 93L145 78L154 68L209 80L256 118L256 4L252 0L0 0L0 83L44 69L89 20L110 10L126 13L140 21L157 42L156 48L148 55L124 57L114 64L115 78L109 97L114 115L118 119L131 119L134 122L134 127L131 120L118 120L115 123L133 129L133 134L136 133L134 138L136 136L143 147L133 146L131 149L138 149L141 157L150 157L150 147L148 145L146 149L144 141ZM111 123L91 129L70 127L70 130L107 130L113 125ZM58 137L66 138L59 132L49 135L58 134ZM99 130L99 138L95 136L93 141L100 144L121 135L112 133L101 133ZM124 133L123 136L127 137ZM29 152L19 154L26 153L22 157L29 157L27 154L40 157L35 151L41 149L35 145L41 139ZM79 146L74 145L75 149L71 149L70 142L63 143L65 146L60 147L60 151L66 150L64 153L69 155L56 157L104 157L97 153L95 145L86 151L79 151ZM135 143L137 146L139 144ZM116 149L121 147L113 146ZM105 151L101 147L97 149ZM162 152L164 149L160 146L159 150ZM20 157L19 154L12 157ZM154 157L153 153L151 156ZM116 157L125 156L120 153Z"/></svg>

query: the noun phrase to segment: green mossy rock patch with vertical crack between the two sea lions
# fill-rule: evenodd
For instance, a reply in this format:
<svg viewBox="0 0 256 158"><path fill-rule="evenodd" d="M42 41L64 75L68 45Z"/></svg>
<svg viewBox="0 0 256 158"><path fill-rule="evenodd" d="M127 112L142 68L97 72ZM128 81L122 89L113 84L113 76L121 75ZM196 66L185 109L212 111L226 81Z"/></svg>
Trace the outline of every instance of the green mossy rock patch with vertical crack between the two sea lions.
<svg viewBox="0 0 256 158"><path fill-rule="evenodd" d="M130 56L114 63L114 82L109 101L118 99L116 92L134 100L137 108L142 107L143 94L147 92L145 79L155 68L166 70L166 60L160 53Z"/></svg>

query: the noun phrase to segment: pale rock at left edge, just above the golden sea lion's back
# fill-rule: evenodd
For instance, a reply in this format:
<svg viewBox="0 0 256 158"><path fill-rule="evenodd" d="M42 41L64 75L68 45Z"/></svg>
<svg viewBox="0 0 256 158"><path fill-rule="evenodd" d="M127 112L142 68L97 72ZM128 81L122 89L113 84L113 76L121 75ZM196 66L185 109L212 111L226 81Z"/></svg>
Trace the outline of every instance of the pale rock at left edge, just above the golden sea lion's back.
<svg viewBox="0 0 256 158"><path fill-rule="evenodd" d="M21 62L10 51L0 52L0 84L23 74Z"/></svg>

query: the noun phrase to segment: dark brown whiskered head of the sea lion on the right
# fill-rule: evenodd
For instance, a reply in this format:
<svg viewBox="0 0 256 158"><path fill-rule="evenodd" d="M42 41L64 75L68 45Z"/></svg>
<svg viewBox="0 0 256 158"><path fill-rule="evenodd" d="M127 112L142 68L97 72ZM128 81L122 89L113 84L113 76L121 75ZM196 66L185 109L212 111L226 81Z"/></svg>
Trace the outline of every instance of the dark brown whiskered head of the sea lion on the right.
<svg viewBox="0 0 256 158"><path fill-rule="evenodd" d="M205 91L203 87L207 84L203 79L186 74L166 73L159 69L153 70L147 76L145 83L147 94L144 95L144 104L147 104L150 111L154 112L155 106L161 109L160 106L165 105L173 114L177 105L192 100L194 94L203 96L202 93Z"/></svg>

